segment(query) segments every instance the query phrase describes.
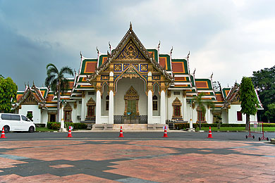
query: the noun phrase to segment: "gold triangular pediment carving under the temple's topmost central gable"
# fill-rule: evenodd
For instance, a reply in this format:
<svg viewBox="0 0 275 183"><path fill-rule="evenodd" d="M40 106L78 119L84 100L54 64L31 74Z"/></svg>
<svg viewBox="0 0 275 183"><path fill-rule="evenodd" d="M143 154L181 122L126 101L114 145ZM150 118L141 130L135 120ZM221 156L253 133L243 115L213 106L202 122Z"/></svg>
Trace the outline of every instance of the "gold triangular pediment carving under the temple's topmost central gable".
<svg viewBox="0 0 275 183"><path fill-rule="evenodd" d="M123 47L121 52L116 56L118 61L145 61L146 58L138 49L138 46L135 45L132 39L128 41L126 46Z"/></svg>

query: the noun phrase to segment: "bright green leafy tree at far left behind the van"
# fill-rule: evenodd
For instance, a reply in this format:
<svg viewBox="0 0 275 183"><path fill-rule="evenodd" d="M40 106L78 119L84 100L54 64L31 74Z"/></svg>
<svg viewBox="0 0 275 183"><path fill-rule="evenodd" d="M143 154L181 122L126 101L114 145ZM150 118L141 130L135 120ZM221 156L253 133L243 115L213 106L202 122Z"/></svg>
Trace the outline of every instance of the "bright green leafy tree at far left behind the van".
<svg viewBox="0 0 275 183"><path fill-rule="evenodd" d="M0 111L1 113L11 112L11 102L16 100L17 85L11 80L11 77L0 77Z"/></svg>

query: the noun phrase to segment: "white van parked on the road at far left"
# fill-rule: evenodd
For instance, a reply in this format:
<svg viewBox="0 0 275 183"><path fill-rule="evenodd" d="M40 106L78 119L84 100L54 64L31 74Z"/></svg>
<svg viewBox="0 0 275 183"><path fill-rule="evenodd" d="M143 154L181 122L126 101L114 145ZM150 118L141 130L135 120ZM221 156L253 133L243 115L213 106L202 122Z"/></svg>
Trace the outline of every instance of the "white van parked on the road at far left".
<svg viewBox="0 0 275 183"><path fill-rule="evenodd" d="M35 132L35 124L25 115L0 113L0 130L5 133L9 131L29 131Z"/></svg>

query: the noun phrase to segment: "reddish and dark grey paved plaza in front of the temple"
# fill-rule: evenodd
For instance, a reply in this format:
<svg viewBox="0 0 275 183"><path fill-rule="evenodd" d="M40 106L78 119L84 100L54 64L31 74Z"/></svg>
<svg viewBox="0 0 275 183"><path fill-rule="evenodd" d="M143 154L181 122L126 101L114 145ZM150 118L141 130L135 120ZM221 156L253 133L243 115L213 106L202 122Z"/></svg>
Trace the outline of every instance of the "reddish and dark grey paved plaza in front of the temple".
<svg viewBox="0 0 275 183"><path fill-rule="evenodd" d="M118 133L80 134L6 134L0 140L0 182L275 182L275 146L267 141L218 134L207 139L207 133L125 133L120 139Z"/></svg>

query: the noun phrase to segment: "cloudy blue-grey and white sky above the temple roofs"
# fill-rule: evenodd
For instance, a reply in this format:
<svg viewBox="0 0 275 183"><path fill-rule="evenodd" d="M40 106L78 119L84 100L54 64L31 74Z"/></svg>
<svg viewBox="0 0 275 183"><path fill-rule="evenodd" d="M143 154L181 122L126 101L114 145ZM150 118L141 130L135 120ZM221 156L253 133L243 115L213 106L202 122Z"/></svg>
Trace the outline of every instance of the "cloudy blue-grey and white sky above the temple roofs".
<svg viewBox="0 0 275 183"><path fill-rule="evenodd" d="M231 87L275 65L275 1L0 0L0 74L18 89L44 84L46 65L80 68L126 34L130 21L146 48L184 58L190 70Z"/></svg>

